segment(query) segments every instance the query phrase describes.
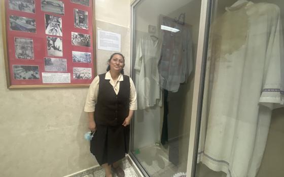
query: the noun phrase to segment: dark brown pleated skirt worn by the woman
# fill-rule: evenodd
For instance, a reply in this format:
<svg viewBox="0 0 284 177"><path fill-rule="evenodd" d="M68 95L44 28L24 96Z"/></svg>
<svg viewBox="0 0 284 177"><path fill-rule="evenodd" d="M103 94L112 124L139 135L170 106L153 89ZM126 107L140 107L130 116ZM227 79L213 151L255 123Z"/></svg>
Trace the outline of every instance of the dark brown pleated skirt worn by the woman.
<svg viewBox="0 0 284 177"><path fill-rule="evenodd" d="M125 157L129 150L130 127L96 125L96 132L91 140L90 151L99 165L114 162Z"/></svg>

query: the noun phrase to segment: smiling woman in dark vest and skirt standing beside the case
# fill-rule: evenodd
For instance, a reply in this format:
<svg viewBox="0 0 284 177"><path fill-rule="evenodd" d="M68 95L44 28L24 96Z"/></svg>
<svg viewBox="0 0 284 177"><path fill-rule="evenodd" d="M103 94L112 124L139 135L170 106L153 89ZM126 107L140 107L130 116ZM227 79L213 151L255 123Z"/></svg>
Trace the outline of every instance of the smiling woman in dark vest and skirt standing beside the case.
<svg viewBox="0 0 284 177"><path fill-rule="evenodd" d="M123 74L124 56L114 53L108 60L107 73L94 78L85 104L89 129L96 131L91 140L91 153L111 177L111 169L124 176L118 161L129 149L129 123L136 105L136 91L129 76Z"/></svg>

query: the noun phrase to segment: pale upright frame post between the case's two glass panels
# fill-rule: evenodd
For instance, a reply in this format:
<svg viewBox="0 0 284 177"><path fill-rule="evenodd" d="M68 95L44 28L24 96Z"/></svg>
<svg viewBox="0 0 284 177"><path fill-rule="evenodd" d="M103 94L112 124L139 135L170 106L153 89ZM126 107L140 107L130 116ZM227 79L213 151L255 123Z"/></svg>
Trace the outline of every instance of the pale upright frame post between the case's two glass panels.
<svg viewBox="0 0 284 177"><path fill-rule="evenodd" d="M202 0L199 23L199 36L197 43L197 55L195 64L195 76L192 99L192 113L189 134L189 149L187 161L187 176L195 176L198 151L199 127L201 120L201 108L203 97L203 81L205 77L205 65L208 46L209 23L211 18L212 1Z"/></svg>

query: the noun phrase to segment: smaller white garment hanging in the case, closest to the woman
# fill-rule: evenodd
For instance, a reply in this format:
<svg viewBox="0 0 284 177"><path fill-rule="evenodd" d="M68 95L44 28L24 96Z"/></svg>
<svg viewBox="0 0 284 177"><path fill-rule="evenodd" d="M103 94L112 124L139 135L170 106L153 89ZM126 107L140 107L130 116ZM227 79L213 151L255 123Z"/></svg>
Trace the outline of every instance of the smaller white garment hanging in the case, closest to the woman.
<svg viewBox="0 0 284 177"><path fill-rule="evenodd" d="M158 73L160 55L159 39L146 35L139 40L134 65L138 109L162 106L163 97Z"/></svg>

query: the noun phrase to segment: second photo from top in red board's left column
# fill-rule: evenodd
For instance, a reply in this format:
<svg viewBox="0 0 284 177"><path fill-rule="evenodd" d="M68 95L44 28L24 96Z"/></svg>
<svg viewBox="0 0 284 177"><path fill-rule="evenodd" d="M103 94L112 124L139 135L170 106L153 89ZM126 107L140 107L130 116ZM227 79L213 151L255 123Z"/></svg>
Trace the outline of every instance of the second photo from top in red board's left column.
<svg viewBox="0 0 284 177"><path fill-rule="evenodd" d="M27 17L10 15L10 30L23 32L37 32L35 20Z"/></svg>

